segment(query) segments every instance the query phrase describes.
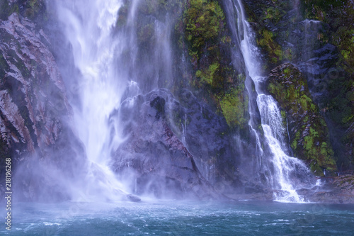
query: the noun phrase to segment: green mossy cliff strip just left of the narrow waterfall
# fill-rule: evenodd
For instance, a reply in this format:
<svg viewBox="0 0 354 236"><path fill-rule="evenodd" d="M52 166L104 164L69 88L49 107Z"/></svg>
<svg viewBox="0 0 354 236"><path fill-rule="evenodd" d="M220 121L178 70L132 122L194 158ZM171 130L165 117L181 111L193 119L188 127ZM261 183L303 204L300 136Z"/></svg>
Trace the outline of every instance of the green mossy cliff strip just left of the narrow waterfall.
<svg viewBox="0 0 354 236"><path fill-rule="evenodd" d="M248 97L244 91L244 73L230 64L232 40L218 1L190 0L183 13L188 55L195 74L190 85L214 103L230 128L244 128Z"/></svg>

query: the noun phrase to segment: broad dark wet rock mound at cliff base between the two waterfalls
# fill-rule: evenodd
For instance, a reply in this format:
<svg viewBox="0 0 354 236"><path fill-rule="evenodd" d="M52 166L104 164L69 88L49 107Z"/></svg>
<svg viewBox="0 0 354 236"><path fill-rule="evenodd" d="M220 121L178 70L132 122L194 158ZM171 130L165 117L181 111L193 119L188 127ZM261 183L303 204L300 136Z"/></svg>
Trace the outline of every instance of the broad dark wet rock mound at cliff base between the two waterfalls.
<svg viewBox="0 0 354 236"><path fill-rule="evenodd" d="M113 154L113 169L139 194L221 198L212 184L238 181L227 123L190 91L183 97L178 102L167 89L158 89L122 102L110 116L113 130L124 124L127 137Z"/></svg>

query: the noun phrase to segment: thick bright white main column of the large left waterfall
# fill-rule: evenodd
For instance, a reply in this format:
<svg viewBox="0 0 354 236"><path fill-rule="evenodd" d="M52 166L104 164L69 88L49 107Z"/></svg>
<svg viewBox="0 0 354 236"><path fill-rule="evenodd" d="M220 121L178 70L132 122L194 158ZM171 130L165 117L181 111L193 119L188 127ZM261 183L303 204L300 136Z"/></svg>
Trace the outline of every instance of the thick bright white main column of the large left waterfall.
<svg viewBox="0 0 354 236"><path fill-rule="evenodd" d="M108 117L118 108L127 84L119 77L113 60L120 41L111 37L121 5L116 0L57 1L59 19L81 72L77 89L80 105L73 105L74 123L84 142L88 164L82 185L74 188L74 201L119 201L126 193L108 167L110 146L120 142L118 134L114 142L108 142Z"/></svg>

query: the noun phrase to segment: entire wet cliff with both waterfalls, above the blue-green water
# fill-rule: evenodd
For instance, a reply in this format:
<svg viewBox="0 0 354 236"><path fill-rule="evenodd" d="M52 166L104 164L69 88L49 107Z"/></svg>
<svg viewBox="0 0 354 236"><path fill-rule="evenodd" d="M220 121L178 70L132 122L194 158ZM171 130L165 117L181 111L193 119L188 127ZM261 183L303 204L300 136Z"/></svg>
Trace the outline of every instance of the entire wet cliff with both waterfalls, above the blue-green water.
<svg viewBox="0 0 354 236"><path fill-rule="evenodd" d="M1 1L17 197L353 201L351 51L307 4Z"/></svg>

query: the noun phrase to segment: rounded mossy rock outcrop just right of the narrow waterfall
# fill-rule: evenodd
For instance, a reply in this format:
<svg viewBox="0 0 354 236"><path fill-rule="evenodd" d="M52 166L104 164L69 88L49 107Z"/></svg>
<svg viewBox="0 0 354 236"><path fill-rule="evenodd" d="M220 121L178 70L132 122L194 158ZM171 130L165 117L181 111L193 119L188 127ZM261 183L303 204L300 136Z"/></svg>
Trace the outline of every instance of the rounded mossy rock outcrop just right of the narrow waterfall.
<svg viewBox="0 0 354 236"><path fill-rule="evenodd" d="M295 157L304 159L314 174L336 171L329 131L319 108L313 103L305 77L292 64L273 69L268 90L280 103Z"/></svg>

